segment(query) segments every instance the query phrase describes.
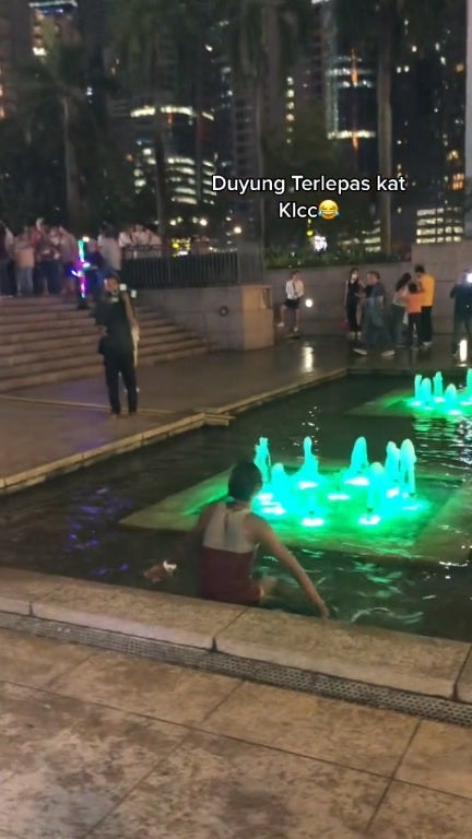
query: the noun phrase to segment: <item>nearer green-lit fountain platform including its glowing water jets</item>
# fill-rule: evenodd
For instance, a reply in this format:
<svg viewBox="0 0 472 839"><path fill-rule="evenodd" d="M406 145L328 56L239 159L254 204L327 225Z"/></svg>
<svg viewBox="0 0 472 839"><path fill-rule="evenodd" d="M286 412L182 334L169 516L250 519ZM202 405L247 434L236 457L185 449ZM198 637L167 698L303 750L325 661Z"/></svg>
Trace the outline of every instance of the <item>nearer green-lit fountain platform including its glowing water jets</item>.
<svg viewBox="0 0 472 839"><path fill-rule="evenodd" d="M261 437L255 463L263 486L252 510L272 524L281 540L296 547L370 559L403 557L463 564L469 552L463 521L472 500L469 488L441 474L422 470L416 474L416 452L410 439L399 446L386 441L385 452L382 463L370 463L367 440L358 437L349 463L328 461L321 465L312 453L311 438L305 437L300 461L272 464L269 439ZM219 473L132 513L121 523L188 531L208 504L226 498L228 474Z"/></svg>

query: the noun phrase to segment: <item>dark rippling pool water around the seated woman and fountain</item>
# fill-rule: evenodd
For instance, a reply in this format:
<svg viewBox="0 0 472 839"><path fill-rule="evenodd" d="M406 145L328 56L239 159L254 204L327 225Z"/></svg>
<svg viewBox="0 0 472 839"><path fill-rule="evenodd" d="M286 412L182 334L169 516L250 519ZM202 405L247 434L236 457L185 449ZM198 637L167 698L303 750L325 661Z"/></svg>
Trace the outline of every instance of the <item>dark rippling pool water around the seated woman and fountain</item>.
<svg viewBox="0 0 472 839"><path fill-rule="evenodd" d="M462 539L463 544L470 542L472 499L464 482L470 480L472 465L472 423L411 412L394 420L382 414L347 415L367 400L382 400L392 387L391 376L351 376L240 414L229 428L172 438L5 496L0 508L0 565L148 589L144 571L172 555L180 532L188 530L199 508L211 498L225 496L227 473L222 470L250 457L261 436L269 438L273 463L283 463L288 475L302 468L304 438L310 437L314 457L319 457L318 470L328 478L349 469L354 442L361 436L367 442L367 459L386 469L387 444L394 441L399 448L403 439L411 439L417 458L416 498L428 506L400 522L392 513L389 521L361 525L367 491L358 487L357 494L354 485L356 511L341 499L328 500L328 511L337 516L332 531L328 525L334 518L327 517L323 527L310 528L300 527L294 518L293 541L286 539L286 544L324 600L335 607L339 619L472 641L472 564L451 567L446 558L449 544L460 548ZM361 458L362 446L357 453ZM396 468L397 458L390 450L389 469ZM160 512L158 501L163 505ZM349 509L351 518L344 527ZM140 527L120 527L134 512ZM283 518L270 519L281 535L280 528L288 525ZM340 523L344 530L338 537ZM413 546L428 529L432 550L437 548L433 562L411 562ZM324 548L323 540L331 547ZM356 541L358 551L352 547ZM453 562L457 553L456 548L450 552ZM429 550L423 554L428 555ZM259 553L255 572L282 574L287 586L293 582L296 589L268 552ZM199 596L193 556L188 556L162 590ZM281 603L280 608L312 614L303 604Z"/></svg>

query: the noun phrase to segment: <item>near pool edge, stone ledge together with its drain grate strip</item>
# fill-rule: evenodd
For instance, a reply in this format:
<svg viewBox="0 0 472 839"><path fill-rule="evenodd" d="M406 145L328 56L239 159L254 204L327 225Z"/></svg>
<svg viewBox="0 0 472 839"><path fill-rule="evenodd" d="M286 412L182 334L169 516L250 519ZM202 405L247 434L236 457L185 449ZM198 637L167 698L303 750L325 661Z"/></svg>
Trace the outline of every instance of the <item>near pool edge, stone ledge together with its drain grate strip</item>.
<svg viewBox="0 0 472 839"><path fill-rule="evenodd" d="M14 568L0 568L0 590L13 631L472 726L469 642Z"/></svg>

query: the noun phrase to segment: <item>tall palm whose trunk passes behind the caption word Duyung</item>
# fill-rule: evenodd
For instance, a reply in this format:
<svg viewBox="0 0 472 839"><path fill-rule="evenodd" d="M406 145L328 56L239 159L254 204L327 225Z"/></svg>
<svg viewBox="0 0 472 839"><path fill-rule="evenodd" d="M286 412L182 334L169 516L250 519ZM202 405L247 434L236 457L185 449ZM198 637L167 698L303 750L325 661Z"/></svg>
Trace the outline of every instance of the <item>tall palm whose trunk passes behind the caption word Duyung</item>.
<svg viewBox="0 0 472 839"><path fill-rule="evenodd" d="M278 62L276 78L284 95L290 71L303 51L311 26L310 0L222 0L220 15L226 23L225 46L236 91L253 95L258 176L264 174L264 80L270 60ZM266 238L263 197L260 200L260 236Z"/></svg>

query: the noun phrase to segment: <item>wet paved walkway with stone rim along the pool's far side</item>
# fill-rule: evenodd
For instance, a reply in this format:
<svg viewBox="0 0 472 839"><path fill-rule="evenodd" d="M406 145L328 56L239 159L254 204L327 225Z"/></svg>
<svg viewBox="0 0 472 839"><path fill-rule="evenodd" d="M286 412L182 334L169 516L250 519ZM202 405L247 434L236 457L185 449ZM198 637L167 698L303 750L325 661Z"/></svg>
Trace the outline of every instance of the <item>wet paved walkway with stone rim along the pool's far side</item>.
<svg viewBox="0 0 472 839"><path fill-rule="evenodd" d="M220 352L143 367L141 411L132 421L110 421L102 377L15 390L0 395L0 436L14 442L1 447L0 491L22 488L173 434L225 425L232 412L346 370L375 375L456 368L446 339L434 353L381 359L355 356L338 336L288 340L257 352Z"/></svg>

